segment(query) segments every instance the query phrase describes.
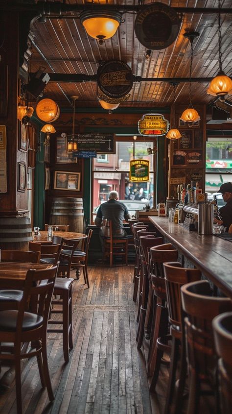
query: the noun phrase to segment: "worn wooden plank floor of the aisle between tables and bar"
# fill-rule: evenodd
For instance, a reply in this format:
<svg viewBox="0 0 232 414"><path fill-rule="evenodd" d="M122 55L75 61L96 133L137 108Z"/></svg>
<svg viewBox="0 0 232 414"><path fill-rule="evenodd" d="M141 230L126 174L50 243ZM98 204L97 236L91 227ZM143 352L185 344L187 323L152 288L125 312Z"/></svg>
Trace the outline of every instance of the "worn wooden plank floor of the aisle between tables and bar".
<svg viewBox="0 0 232 414"><path fill-rule="evenodd" d="M23 366L25 414L160 414L164 389L150 398L144 352L136 347L138 305L133 266L90 267L90 289L83 276L73 283L73 343L64 364L61 334L49 334L48 363L55 400L42 390L36 359ZM74 277L75 273L72 273ZM159 400L159 403L158 403ZM0 390L0 413L15 414L15 387Z"/></svg>

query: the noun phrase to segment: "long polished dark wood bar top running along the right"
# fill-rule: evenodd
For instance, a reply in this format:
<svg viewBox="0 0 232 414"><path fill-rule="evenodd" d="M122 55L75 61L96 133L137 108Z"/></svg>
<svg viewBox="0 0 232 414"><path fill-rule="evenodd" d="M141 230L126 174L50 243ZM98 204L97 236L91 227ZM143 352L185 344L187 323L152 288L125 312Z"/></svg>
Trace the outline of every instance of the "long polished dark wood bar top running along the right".
<svg viewBox="0 0 232 414"><path fill-rule="evenodd" d="M213 235L198 235L166 217L149 220L178 251L199 268L216 286L232 298L232 243Z"/></svg>

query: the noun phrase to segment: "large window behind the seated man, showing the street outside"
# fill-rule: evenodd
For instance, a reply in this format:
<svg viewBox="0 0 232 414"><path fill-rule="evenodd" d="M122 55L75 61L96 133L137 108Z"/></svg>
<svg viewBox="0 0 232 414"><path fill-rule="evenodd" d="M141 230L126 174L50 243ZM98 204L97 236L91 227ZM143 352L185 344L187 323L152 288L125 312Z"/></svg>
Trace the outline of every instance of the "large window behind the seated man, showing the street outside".
<svg viewBox="0 0 232 414"><path fill-rule="evenodd" d="M109 193L116 190L119 200L125 202L129 213L135 216L136 210L143 209L149 201L153 207L153 194L155 191L154 155L149 155L147 149L154 148L153 141L145 138L116 141L115 154L98 154L93 158L93 196L92 196L92 222L95 219L99 205L109 199ZM129 199L125 187L129 182L130 160L145 159L150 161L150 181L145 183L131 183Z"/></svg>

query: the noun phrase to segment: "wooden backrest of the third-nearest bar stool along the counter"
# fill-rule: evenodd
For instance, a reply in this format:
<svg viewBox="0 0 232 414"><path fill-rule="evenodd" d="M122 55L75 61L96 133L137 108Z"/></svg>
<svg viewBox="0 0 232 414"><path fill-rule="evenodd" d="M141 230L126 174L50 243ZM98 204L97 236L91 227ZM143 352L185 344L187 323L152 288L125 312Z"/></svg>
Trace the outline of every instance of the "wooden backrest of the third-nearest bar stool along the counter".
<svg viewBox="0 0 232 414"><path fill-rule="evenodd" d="M168 319L173 329L180 329L182 322L181 286L201 279L201 271L183 268L180 262L163 263L168 302Z"/></svg>

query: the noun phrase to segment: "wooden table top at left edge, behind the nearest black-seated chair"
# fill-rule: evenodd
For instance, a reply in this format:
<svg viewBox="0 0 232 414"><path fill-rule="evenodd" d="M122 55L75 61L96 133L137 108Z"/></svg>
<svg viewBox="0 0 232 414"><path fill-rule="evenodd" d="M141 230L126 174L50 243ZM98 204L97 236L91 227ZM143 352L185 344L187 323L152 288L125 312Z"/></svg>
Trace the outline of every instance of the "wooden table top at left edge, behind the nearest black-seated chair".
<svg viewBox="0 0 232 414"><path fill-rule="evenodd" d="M42 263L0 262L0 286L3 280L24 280L29 269L44 270L51 267Z"/></svg>

